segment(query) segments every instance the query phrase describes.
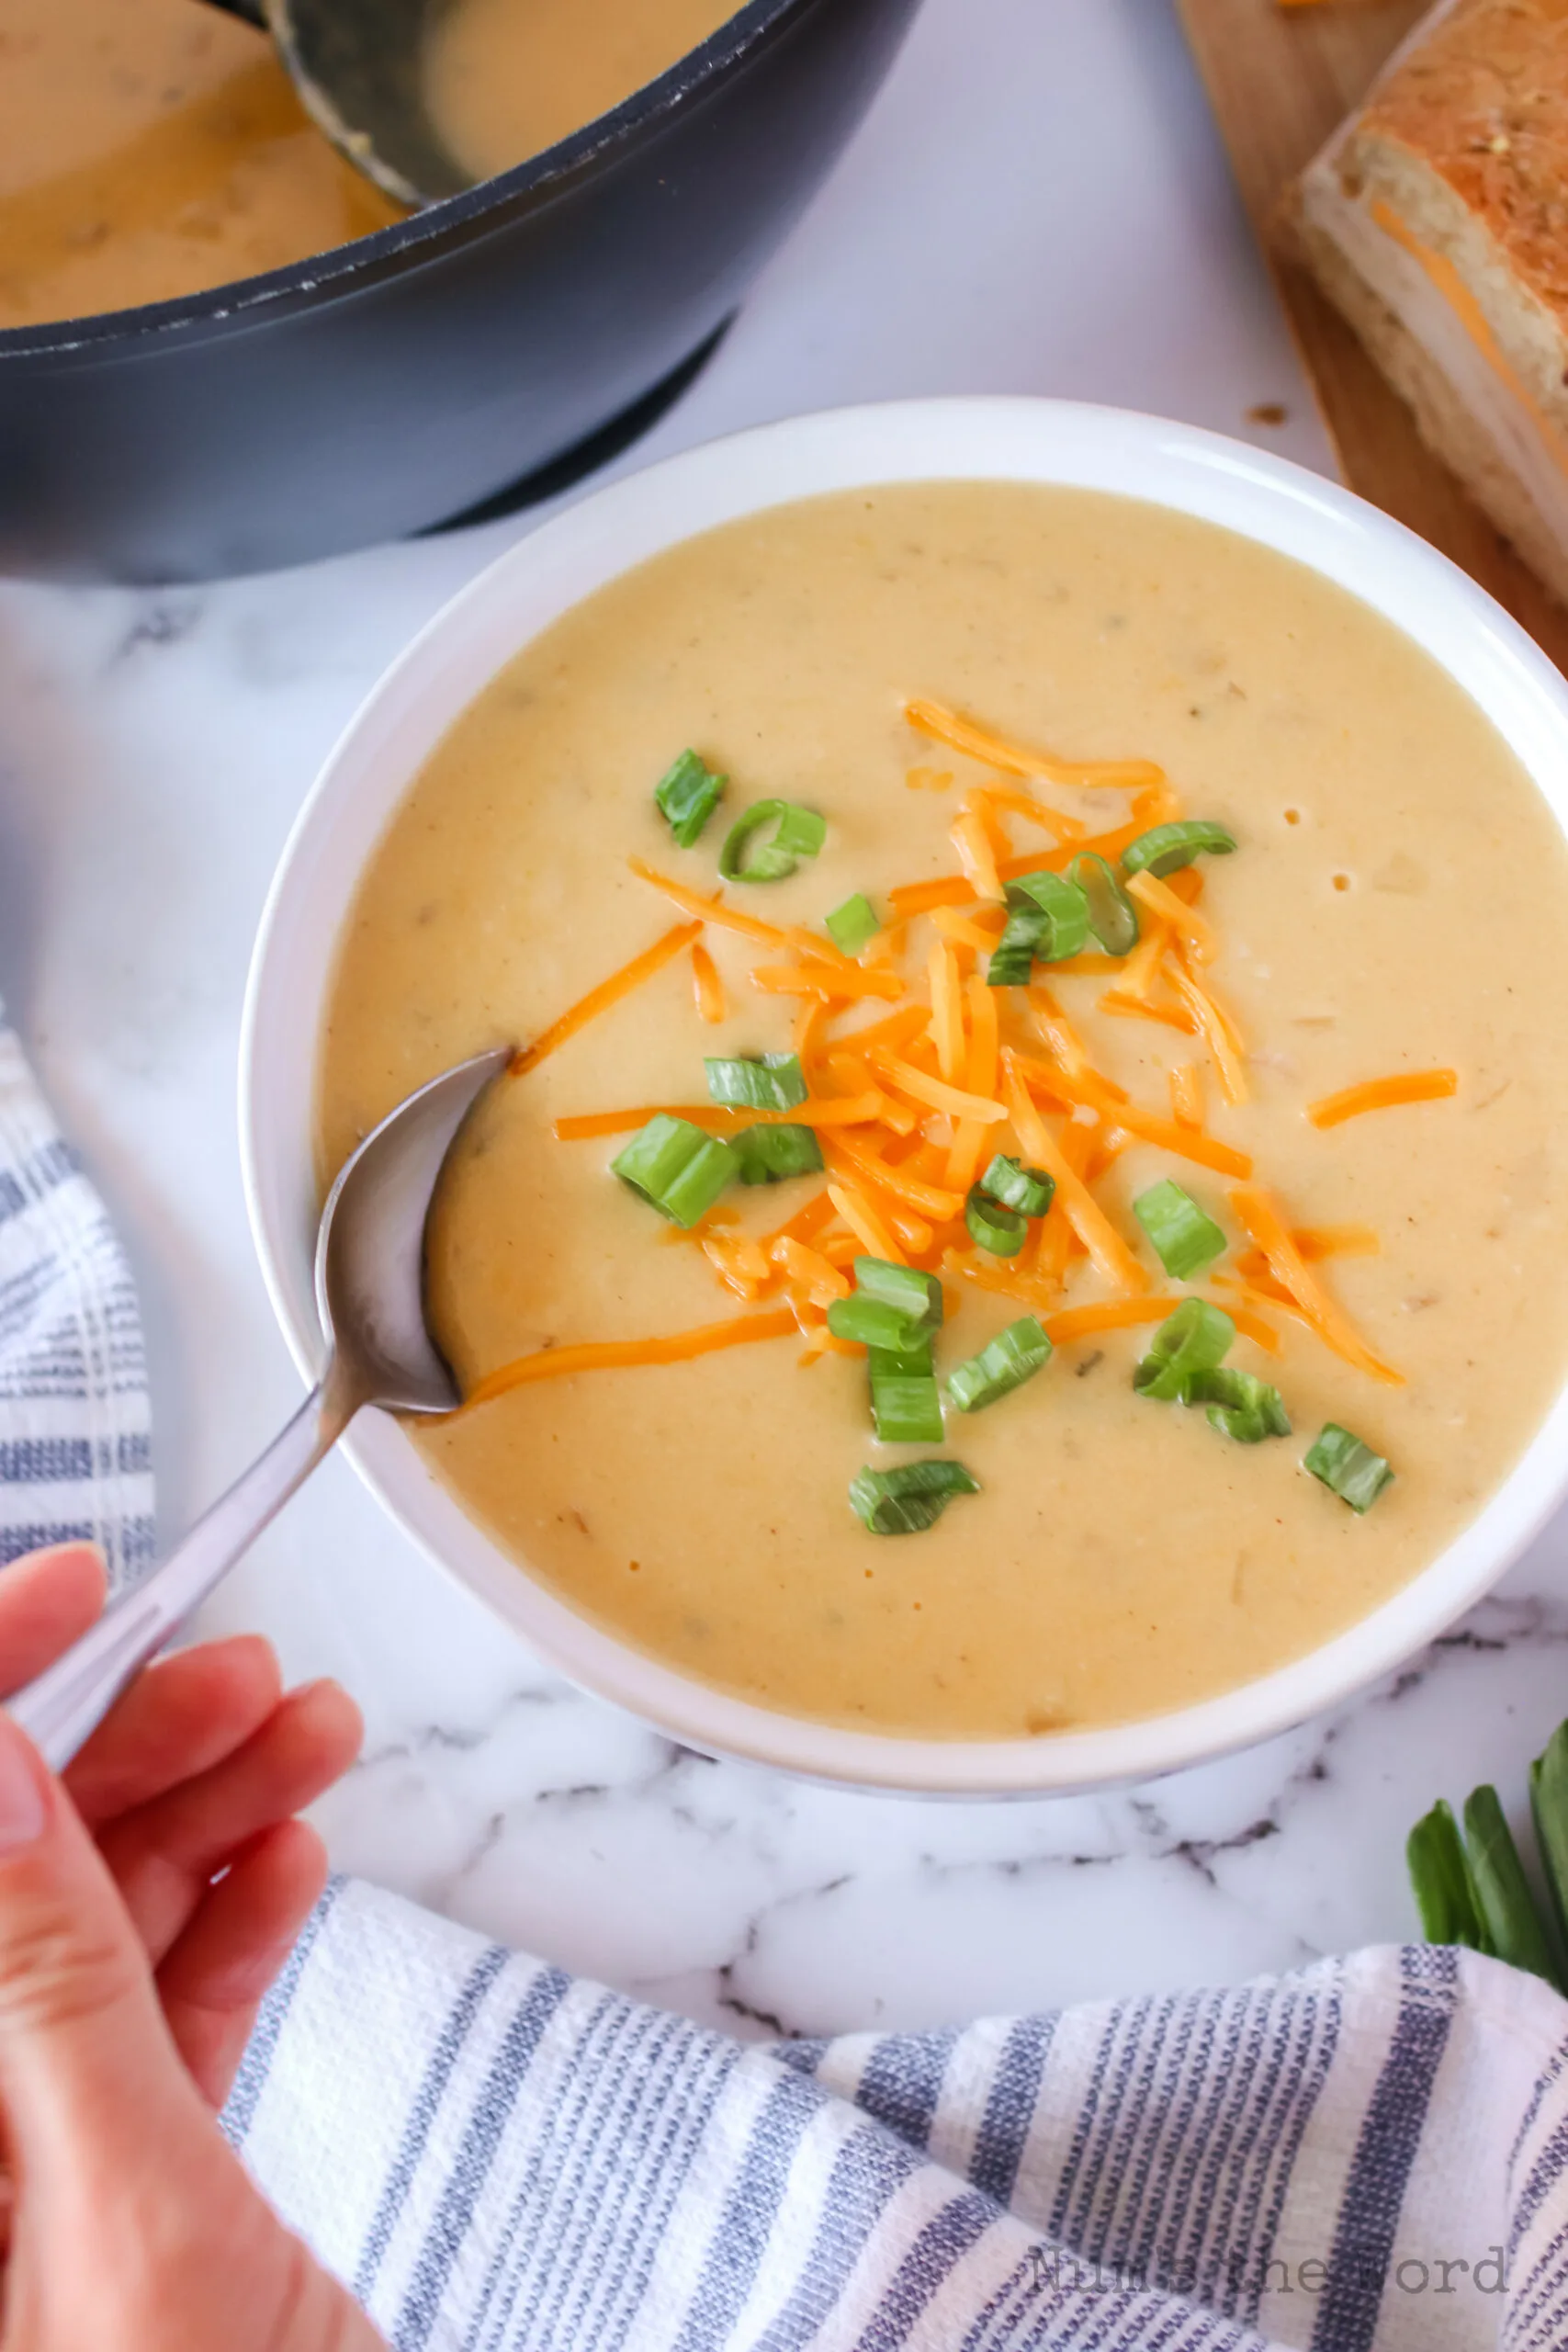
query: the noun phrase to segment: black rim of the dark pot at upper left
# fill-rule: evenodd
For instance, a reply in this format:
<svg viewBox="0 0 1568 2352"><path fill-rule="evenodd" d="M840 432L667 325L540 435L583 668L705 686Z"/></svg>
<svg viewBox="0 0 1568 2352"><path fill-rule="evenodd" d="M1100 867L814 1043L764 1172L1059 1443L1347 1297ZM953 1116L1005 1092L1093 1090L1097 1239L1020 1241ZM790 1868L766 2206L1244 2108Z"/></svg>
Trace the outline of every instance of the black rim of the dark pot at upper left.
<svg viewBox="0 0 1568 2352"><path fill-rule="evenodd" d="M172 332L181 332L186 341L200 336L200 329L237 332L263 322L277 308L294 313L390 278L407 263L435 261L484 235L491 221L538 212L567 195L571 183L611 151L630 153L644 136L656 136L679 108L708 101L717 85L788 19L820 7L832 7L832 0L743 0L696 49L686 49L618 106L557 139L555 146L541 148L538 155L527 155L510 172L496 172L458 195L409 212L402 221L388 221L386 228L329 245L320 254L303 254L275 270L226 278L195 294L172 294L167 301L134 303L125 310L89 310L82 318L0 327L0 362L120 350Z"/></svg>

